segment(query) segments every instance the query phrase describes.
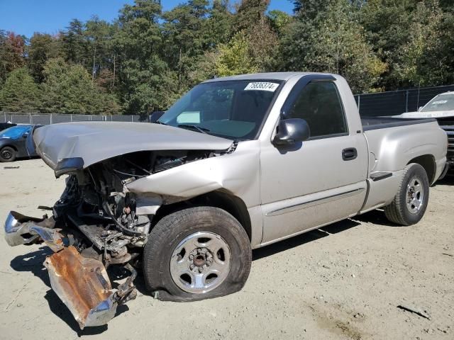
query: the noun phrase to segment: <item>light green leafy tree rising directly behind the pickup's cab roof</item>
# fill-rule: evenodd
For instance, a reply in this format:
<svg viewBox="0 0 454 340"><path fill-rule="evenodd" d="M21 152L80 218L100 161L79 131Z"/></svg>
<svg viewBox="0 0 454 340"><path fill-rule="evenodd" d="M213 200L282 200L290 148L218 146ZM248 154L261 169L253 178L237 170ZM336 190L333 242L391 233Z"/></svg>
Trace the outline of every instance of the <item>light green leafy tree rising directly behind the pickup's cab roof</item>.
<svg viewBox="0 0 454 340"><path fill-rule="evenodd" d="M348 0L331 1L323 13L305 13L287 36L284 53L292 55L283 64L287 69L331 72L345 77L354 92L376 91L387 65L367 43L365 32L355 17L357 8ZM310 18L314 18L310 20ZM293 42L292 42L293 41Z"/></svg>

